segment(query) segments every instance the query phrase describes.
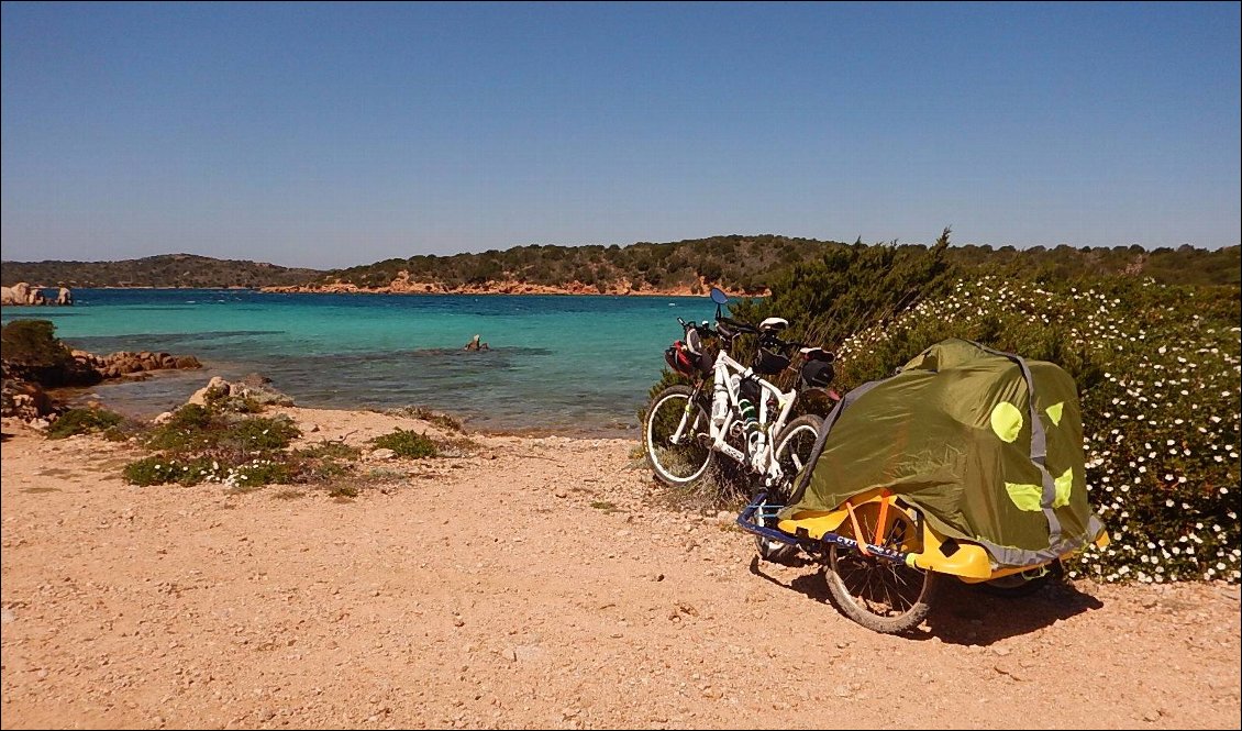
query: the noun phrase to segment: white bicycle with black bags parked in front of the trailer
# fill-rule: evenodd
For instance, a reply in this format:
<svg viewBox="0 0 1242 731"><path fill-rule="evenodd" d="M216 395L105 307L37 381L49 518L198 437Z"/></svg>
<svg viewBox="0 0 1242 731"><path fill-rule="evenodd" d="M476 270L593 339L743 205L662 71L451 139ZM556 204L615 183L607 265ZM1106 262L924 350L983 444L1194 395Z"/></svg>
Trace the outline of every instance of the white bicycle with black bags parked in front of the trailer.
<svg viewBox="0 0 1242 731"><path fill-rule="evenodd" d="M835 356L818 347L782 341L789 321L769 317L758 326L730 320L720 307L728 295L712 288L715 328L677 318L684 338L664 351L669 368L694 380L672 385L651 400L643 419L643 448L656 477L674 487L689 485L707 474L715 456L724 455L761 477L761 490L774 501L789 496L794 477L810 460L823 420L804 414L789 420L800 390L826 389L832 380ZM729 351L741 336L759 337L751 366L735 361ZM705 338L718 338L713 359ZM776 375L801 358L797 385L782 392L763 375ZM786 420L789 420L786 423ZM759 541L764 558L780 558L789 546Z"/></svg>

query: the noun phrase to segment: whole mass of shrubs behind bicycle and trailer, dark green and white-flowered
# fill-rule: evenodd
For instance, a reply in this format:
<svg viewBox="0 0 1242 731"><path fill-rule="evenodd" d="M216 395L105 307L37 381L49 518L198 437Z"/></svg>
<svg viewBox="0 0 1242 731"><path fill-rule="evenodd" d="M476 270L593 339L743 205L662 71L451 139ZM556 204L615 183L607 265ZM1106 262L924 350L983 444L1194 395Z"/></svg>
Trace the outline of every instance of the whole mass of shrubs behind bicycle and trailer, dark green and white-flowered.
<svg viewBox="0 0 1242 731"><path fill-rule="evenodd" d="M892 375L949 337L1061 366L1078 384L1089 499L1113 540L1068 561L1068 576L1238 583L1242 288L1205 266L1236 251L1057 247L1032 260L1001 250L986 266L966 266L954 251L836 249L794 265L771 297L730 315L785 317L790 339L835 351L840 393ZM1164 283L1110 274L1126 256L1155 266ZM1086 261L1100 271L1088 274ZM1164 269L1171 262L1191 271ZM653 389L674 379L666 374ZM698 490L738 500L738 480L714 480Z"/></svg>

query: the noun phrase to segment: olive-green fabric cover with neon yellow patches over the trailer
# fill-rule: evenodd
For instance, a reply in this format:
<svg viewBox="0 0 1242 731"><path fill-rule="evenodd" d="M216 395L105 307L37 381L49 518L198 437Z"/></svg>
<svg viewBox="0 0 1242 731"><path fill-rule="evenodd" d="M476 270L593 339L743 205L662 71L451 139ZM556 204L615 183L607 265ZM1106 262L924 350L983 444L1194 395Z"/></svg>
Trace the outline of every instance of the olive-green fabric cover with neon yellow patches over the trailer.
<svg viewBox="0 0 1242 731"><path fill-rule="evenodd" d="M1087 502L1073 379L970 341L936 343L846 394L810 464L782 518L887 487L999 568L1047 563L1104 530Z"/></svg>

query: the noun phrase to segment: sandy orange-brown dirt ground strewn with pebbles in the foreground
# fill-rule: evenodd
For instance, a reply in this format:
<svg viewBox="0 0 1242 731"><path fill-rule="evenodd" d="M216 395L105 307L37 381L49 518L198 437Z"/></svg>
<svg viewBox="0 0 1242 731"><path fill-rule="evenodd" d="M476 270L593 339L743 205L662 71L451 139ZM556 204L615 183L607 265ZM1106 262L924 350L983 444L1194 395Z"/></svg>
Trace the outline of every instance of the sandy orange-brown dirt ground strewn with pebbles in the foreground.
<svg viewBox="0 0 1242 731"><path fill-rule="evenodd" d="M133 487L124 448L6 439L2 726L1240 725L1236 587L954 586L884 637L662 507L632 443L481 441L338 501Z"/></svg>

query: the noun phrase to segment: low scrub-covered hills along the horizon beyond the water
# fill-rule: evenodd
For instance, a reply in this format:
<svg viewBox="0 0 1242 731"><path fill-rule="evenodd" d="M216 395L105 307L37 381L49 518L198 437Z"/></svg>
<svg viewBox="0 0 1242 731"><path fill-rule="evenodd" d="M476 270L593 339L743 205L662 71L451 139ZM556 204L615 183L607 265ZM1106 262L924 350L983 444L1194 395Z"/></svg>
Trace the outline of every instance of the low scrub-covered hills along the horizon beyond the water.
<svg viewBox="0 0 1242 731"><path fill-rule="evenodd" d="M4 261L5 286L39 287L243 287L272 292L512 293L512 295L699 295L720 286L739 296L764 296L776 275L818 261L833 247L923 247L918 244L820 241L779 235L712 236L628 246L515 246L504 251L417 255L335 270L277 266L170 254L123 261ZM969 267L1069 281L1083 276L1150 277L1160 283L1237 285L1238 246L1189 245L951 246L951 261Z"/></svg>

